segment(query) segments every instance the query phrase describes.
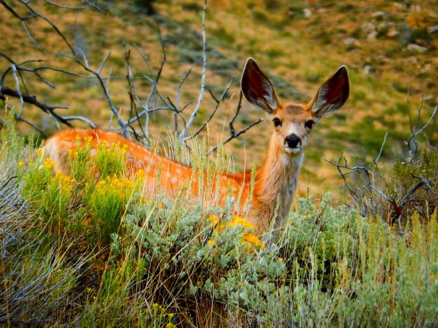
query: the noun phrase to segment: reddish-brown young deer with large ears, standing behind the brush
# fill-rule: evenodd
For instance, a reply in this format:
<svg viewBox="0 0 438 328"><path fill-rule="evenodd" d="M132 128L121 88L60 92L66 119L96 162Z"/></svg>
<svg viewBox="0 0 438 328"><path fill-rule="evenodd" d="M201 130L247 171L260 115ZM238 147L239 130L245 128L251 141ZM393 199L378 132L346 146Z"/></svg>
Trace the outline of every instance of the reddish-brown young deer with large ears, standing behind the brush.
<svg viewBox="0 0 438 328"><path fill-rule="evenodd" d="M249 201L248 221L255 226L258 234L268 230L272 219L275 220L274 232L278 233L290 210L304 149L309 144L313 126L321 117L339 110L348 98L347 68L341 66L308 104L281 103L267 75L249 58L241 77L241 89L251 105L265 112L274 133L269 142L267 158L255 174L253 191L250 172L220 173L216 187L222 201L229 191L239 199L241 209ZM199 197L199 188L202 186L198 172L159 156L117 133L99 130L61 131L46 140L45 155L55 161L55 170L66 172L69 170L69 149L83 147L85 140L91 143L90 156L101 144L118 142L125 147L128 174L134 175L138 170L146 172L145 195L155 195L160 189L168 197L176 197L183 186L189 186L192 194L188 197ZM160 174L157 174L158 170ZM157 181L158 175L160 181Z"/></svg>

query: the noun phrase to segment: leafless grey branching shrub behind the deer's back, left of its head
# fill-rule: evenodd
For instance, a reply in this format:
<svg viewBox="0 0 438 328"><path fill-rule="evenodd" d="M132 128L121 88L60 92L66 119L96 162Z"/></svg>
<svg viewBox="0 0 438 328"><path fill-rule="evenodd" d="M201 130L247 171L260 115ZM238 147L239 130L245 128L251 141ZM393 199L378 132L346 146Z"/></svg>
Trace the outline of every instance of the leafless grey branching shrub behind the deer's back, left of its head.
<svg viewBox="0 0 438 328"><path fill-rule="evenodd" d="M36 3L18 0L12 6L10 1L0 0L0 5L8 10L13 19L20 21L22 28L27 34L27 37L31 43L38 48L38 50L41 50L42 54L44 54L45 51L32 35L31 28L27 23L29 20L43 20L46 22L50 26L52 33L55 33L57 36L59 36L65 45L67 51L59 52L59 54L61 54L62 57L71 60L73 64L69 70L66 70L56 66L46 65L45 59L33 58L25 61L16 61L13 59L13 56L10 56L10 54L7 54L6 52L0 52L0 60L3 59L3 61L7 62L6 68L0 72L0 99L3 100L3 103L7 103L7 98L17 99L19 101L19 108L15 108L14 110L15 118L28 124L43 136L46 136L45 129L42 126L39 126L38 123L29 119L29 116L27 115L27 107L29 105L34 106L43 113L47 114L48 117L55 121L55 126L57 128L61 128L61 125L74 127L76 126L74 123L75 121L82 122L82 124L86 124L90 128L97 128L97 123L90 117L81 115L64 115L59 113L60 109L68 110L71 104L52 105L46 103L44 100L41 100L41 98L43 98L42 96L33 93L34 91L29 88L29 85L31 85L31 83L29 83L30 77L36 77L38 81L43 82L43 84L45 84L47 87L55 89L55 84L47 80L44 76L44 73L48 70L55 71L61 75L76 77L78 79L97 81L101 94L103 94L104 98L106 99L107 108L111 112L111 119L109 122L110 129L113 131L119 131L127 138L134 137L134 139L146 144L147 147L150 146L150 117L155 112L164 111L169 113L169 116L171 117L171 120L169 121L173 121L173 126L171 129L173 129L174 133L178 136L177 139L180 146L183 146L186 142L191 140L193 137L200 135L200 133L204 131L211 119L213 119L213 116L216 114L220 104L225 100L227 92L232 85L232 82L229 82L220 97L213 95L213 92L206 87L207 46L205 17L207 1L204 1L204 8L202 11L202 53L200 54L200 59L195 61L192 67L182 77L176 89L176 96L173 100L172 97L162 94L159 89L160 77L162 76L163 70L165 69L164 66L167 61L160 27L157 28L157 34L161 43L162 61L156 72L153 70L150 59L146 54L143 53L139 45L134 43L125 43L126 76L112 76L111 69L109 69L110 73L105 73L108 71L108 68L105 69L106 66L108 66L109 62L111 62L111 51L106 53L99 64L92 64L89 55L87 55L87 52L83 49L83 46L78 41L78 31L76 27L74 40L69 40L66 34L57 26L55 22L36 9ZM87 0L78 0L77 6L62 6L55 1L45 0L45 6L52 7L54 10L97 10L101 13L104 13L104 10L99 8L94 1ZM26 12L26 14L20 14L22 12ZM143 59L143 63L146 66L146 71L142 68L134 69L132 67L132 55L134 54L133 50L136 55ZM200 82L201 87L199 89L197 100L190 100L188 103L181 104L181 89L183 88L185 81L188 80L188 77L192 73L192 69L195 68L195 66L197 66L199 63L202 64L202 75ZM138 71L139 73L134 73L134 71ZM122 114L113 101L109 84L111 80L115 79L125 79L127 81L127 103L130 105L129 114L127 115ZM146 96L144 90L142 89L140 92L139 87L137 87L137 80L147 82L148 92L146 93ZM197 122L196 118L203 103L204 96L206 95L206 91L209 91L209 94L215 101L216 106L213 108L211 114L209 114L209 117L204 122ZM194 107L191 107L192 105L194 105ZM8 110L12 110L12 105L7 104L6 107ZM220 145L226 144L234 138L239 137L239 135L245 133L250 128L262 121L259 119L242 128L241 130L236 131L233 124L234 121L236 121L240 109L241 96L239 97L239 103L236 107L236 112L229 121L229 136L225 137L224 140L221 140L216 146L212 146L208 151L209 154L211 154L213 151L216 151ZM113 126L113 121L116 122L115 126ZM191 132L193 127L196 125L197 128L195 128L195 131Z"/></svg>

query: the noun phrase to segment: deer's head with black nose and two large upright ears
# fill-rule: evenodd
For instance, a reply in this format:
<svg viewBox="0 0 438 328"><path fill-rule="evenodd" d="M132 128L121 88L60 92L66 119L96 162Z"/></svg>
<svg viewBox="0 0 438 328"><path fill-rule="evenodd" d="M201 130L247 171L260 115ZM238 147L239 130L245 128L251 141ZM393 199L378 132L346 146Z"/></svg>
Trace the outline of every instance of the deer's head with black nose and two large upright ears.
<svg viewBox="0 0 438 328"><path fill-rule="evenodd" d="M306 149L313 126L321 117L336 112L344 105L350 87L347 68L341 66L308 104L282 103L267 75L254 59L248 58L241 89L251 105L267 114L274 127L279 150L297 156Z"/></svg>

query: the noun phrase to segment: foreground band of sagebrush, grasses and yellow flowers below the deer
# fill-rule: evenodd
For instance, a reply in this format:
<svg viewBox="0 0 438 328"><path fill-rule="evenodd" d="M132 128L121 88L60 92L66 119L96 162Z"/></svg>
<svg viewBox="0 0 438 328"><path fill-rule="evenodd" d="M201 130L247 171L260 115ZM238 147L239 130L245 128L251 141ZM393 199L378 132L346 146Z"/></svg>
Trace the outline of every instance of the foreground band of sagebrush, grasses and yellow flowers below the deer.
<svg viewBox="0 0 438 328"><path fill-rule="evenodd" d="M125 177L112 147L97 151L98 170L79 149L66 176L24 151L12 125L2 132L2 324L437 325L436 213L413 214L401 236L330 195L318 206L301 198L281 237L260 241L231 198L219 209L141 195L141 174ZM197 169L228 167L202 149Z"/></svg>

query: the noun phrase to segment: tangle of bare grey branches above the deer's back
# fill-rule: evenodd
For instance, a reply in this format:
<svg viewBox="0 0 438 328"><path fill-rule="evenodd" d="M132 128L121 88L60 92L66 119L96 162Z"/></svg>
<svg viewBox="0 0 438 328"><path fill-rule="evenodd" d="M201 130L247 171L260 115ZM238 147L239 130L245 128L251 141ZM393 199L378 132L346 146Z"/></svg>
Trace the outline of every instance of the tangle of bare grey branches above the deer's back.
<svg viewBox="0 0 438 328"><path fill-rule="evenodd" d="M24 10L26 10L27 15L20 15L20 10L15 10L15 6L10 6L8 0L0 0L0 4L3 5L6 10L9 11L13 17L15 17L17 20L20 20L21 24L23 25L24 31L26 31L29 39L34 42L38 47L38 43L34 38L31 36L31 30L28 29L27 22L31 19L41 19L48 23L50 25L50 29L52 29L53 32L57 34L57 36L61 37L63 42L69 47L69 52L66 52L66 54L61 53L62 56L71 59L74 63L78 64L78 67L85 70L86 73L76 72L76 69L72 70L64 70L62 68L52 67L45 64L39 64L44 62L44 59L29 59L22 61L20 63L15 62L12 58L10 58L7 54L3 54L0 52L0 58L6 59L8 61L8 65L2 72L0 72L0 98L3 99L3 101L6 101L6 97L13 97L17 98L20 101L20 111L18 112L16 118L24 121L24 123L27 123L31 125L32 123L28 121L27 119L24 119L21 117L22 109L24 105L31 104L35 105L36 107L43 110L43 112L48 113L52 119L55 120L55 124L59 126L59 123L66 124L67 126L73 126L72 121L81 121L88 126L94 128L96 125L94 122L92 122L90 119L87 119L85 117L80 117L77 115L73 116L63 116L61 114L57 113L57 109L59 108L69 108L67 106L60 106L60 105L48 105L47 103L44 103L42 101L37 100L36 96L32 96L32 92L27 89L27 84L30 86L29 81L27 80L28 73L30 75L34 75L38 82L42 82L45 85L47 85L50 88L55 88L55 84L52 84L49 79L45 77L45 70L52 70L54 72L64 74L64 75L70 75L73 77L79 77L84 79L96 79L99 81L99 87L104 93L104 96L106 98L106 101L108 103L108 107L111 110L111 117L115 117L118 121L118 126L120 128L115 128L118 131L122 131L122 134L125 135L125 137L129 137L130 133L134 134L134 137L136 137L137 140L143 139L143 136L146 137L147 140L149 140L148 135L148 125L150 120L150 114L153 112L157 112L160 110L168 110L173 112L174 117L174 130L176 133L178 133L178 141L187 141L190 140L194 135L188 137L188 131L190 128L192 128L194 121L197 117L197 114L202 106L202 101L204 99L205 90L206 90L206 0L204 0L204 8L203 8L203 14L202 14L202 56L195 64L192 65L192 67L185 73L183 78L181 79L180 83L178 84L178 88L176 91L176 101L175 103L172 102L172 100L167 97L163 96L160 91L158 90L158 82L160 80L160 77L162 76L162 73L164 71L164 65L167 61L167 55L165 52L164 47L164 40L162 37L162 33L160 30L160 26L157 26L157 33L160 39L161 47L162 47L162 61L157 71L153 71L152 66L150 64L150 61L146 57L143 52L134 45L135 49L143 60L146 63L147 66L147 72L145 75L141 76L134 76L133 68L131 66L129 57L130 53L128 50L126 50L126 61L127 61L127 75L125 76L111 76L111 73L109 73L108 76L103 76L104 74L104 68L107 66L108 62L111 60L111 52L108 52L103 59L100 61L99 64L97 64L96 68L93 68L94 65L89 62L89 59L87 58L87 53L85 52L85 49L81 47L79 42L76 42L76 45L73 47L73 40L69 40L66 38L64 33L57 27L57 24L53 20L50 19L50 17L46 17L43 13L38 11L38 7L34 6L34 1L32 0L17 0L18 6L24 7ZM59 10L83 10L85 8L93 8L95 10L99 10L103 13L103 10L101 10L99 7L97 7L93 1L90 0L82 0L82 3L78 4L78 6L73 6L69 4L62 4L59 1L55 0L44 0L45 3L47 3L48 6L53 6L55 8L59 8ZM36 7L36 8L34 8ZM78 23L76 18L76 24L74 26L75 29L75 40L78 39ZM41 49L41 47L40 47ZM42 50L43 51L43 50ZM192 105L193 101L190 101L188 103L185 103L185 105L181 105L181 89L183 88L183 85L185 81L188 79L189 75L192 73L193 68L197 66L199 61L202 61L202 77L201 77L201 87L199 91L199 95L197 97L197 100L195 100L195 106L194 109L190 112L189 118L186 121L185 117L183 117L182 112L184 110L187 110L187 108ZM48 76L48 75L47 75ZM13 83L15 85L10 86L6 83L9 83L10 78L13 78ZM120 114L119 110L115 107L115 104L113 103L111 94L110 94L110 88L109 88L109 82L111 79L126 79L129 87L129 100L130 100L130 107L131 110L129 112L129 118L125 121L125 119L122 118L122 114ZM135 80L137 79L143 79L148 80L150 82L150 92L146 96L145 100L141 100L139 93L137 91ZM195 135L198 135L200 131L202 131L207 124L211 121L213 116L216 114L218 107L220 103L225 98L227 91L231 87L231 82L227 85L223 93L219 98L216 98L211 90L209 90L212 98L216 101L216 107L213 108L213 111L211 114L209 114L209 117L204 121L201 127L197 128L197 132L195 132ZM237 115L239 114L239 110L241 107L241 100L239 100L239 106L236 109L236 113L234 114L234 117L232 117L231 121L229 121L229 131L230 135L229 137L222 142L222 144L225 144L229 142L229 140L232 140L236 137L239 137L239 135L245 133L248 131L249 128L252 126L255 126L256 124L260 123L262 120L258 120L250 124L249 126L246 126L246 128L241 129L240 131L236 131L234 128L234 121L236 120ZM141 107L141 109L140 109ZM143 119L146 118L146 121L143 121ZM178 128L178 124L181 124L182 122L182 128L181 131ZM37 126L34 125L34 128L39 129ZM140 134L138 131L141 131ZM41 131L39 129L38 131ZM218 146L213 147L211 151L214 151L217 149Z"/></svg>

